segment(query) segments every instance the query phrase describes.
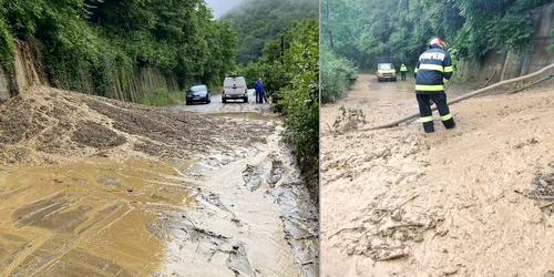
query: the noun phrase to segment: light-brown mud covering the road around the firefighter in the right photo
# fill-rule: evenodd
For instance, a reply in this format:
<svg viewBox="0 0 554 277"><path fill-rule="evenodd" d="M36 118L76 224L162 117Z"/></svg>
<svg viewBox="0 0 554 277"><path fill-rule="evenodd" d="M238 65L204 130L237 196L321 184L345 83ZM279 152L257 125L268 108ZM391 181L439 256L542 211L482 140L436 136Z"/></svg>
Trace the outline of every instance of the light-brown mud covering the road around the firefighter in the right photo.
<svg viewBox="0 0 554 277"><path fill-rule="evenodd" d="M554 88L454 104L454 130L357 131L417 112L404 85L360 75L321 109L321 276L548 276L554 216L533 188L554 182Z"/></svg>

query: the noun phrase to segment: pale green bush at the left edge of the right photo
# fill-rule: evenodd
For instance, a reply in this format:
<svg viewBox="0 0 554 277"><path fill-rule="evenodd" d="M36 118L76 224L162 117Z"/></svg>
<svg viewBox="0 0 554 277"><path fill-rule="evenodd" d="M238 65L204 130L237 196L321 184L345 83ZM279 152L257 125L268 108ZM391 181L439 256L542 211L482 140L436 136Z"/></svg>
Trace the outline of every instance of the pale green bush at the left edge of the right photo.
<svg viewBox="0 0 554 277"><path fill-rule="evenodd" d="M337 57L327 45L321 47L321 102L341 96L358 78L353 62Z"/></svg>

